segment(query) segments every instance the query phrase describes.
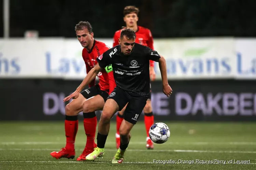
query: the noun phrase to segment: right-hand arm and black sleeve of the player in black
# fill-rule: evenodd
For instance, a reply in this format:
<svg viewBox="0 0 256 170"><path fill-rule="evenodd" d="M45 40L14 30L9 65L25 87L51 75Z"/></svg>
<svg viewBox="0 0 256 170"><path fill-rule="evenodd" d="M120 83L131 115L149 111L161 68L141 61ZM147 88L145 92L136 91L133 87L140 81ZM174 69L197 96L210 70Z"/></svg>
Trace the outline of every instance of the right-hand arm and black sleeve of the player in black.
<svg viewBox="0 0 256 170"><path fill-rule="evenodd" d="M162 55L159 55L157 51L147 48L147 56L149 60L153 60L159 63L159 69L162 77L163 93L169 97L172 94L172 88L168 84L167 79L167 67L166 60Z"/></svg>

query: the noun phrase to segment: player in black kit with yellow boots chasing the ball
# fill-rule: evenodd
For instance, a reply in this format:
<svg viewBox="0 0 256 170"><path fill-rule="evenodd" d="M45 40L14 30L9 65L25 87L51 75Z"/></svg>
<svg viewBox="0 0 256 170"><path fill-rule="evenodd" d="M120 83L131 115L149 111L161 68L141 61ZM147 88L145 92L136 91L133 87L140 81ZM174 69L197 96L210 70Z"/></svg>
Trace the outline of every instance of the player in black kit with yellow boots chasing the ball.
<svg viewBox="0 0 256 170"><path fill-rule="evenodd" d="M169 97L172 89L167 81L166 61L156 51L135 43L136 34L132 29L121 31L119 45L109 49L97 58L98 64L89 71L82 84L94 80L101 69L112 64L116 87L105 102L98 126L97 148L86 156L95 160L104 154L106 138L109 134L110 120L113 115L127 104L124 120L120 126L120 148L112 163L122 163L131 134L130 131L139 119L150 94L149 62L159 63L163 93Z"/></svg>

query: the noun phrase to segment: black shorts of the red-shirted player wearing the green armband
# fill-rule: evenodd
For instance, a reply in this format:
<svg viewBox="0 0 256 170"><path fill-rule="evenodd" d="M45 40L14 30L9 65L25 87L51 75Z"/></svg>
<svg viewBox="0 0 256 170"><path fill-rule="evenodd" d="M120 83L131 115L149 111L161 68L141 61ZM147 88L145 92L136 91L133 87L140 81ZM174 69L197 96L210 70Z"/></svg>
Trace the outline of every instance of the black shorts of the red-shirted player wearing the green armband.
<svg viewBox="0 0 256 170"><path fill-rule="evenodd" d="M100 95L106 102L107 98L109 97L109 91L101 90L99 85L97 84L93 87L87 88L86 90L82 91L81 95L83 95L86 99Z"/></svg>

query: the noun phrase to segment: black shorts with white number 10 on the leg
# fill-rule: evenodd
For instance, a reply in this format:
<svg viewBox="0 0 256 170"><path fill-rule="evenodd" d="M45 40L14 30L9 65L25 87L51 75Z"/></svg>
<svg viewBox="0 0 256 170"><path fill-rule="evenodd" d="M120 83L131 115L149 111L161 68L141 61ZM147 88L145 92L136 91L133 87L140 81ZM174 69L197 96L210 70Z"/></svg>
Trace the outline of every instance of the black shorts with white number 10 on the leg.
<svg viewBox="0 0 256 170"><path fill-rule="evenodd" d="M119 106L118 111L121 111L128 103L124 112L124 119L127 122L136 124L140 118L143 108L146 105L148 96L132 97L128 95L123 89L116 87L114 91L109 95L108 99L113 99L116 101Z"/></svg>

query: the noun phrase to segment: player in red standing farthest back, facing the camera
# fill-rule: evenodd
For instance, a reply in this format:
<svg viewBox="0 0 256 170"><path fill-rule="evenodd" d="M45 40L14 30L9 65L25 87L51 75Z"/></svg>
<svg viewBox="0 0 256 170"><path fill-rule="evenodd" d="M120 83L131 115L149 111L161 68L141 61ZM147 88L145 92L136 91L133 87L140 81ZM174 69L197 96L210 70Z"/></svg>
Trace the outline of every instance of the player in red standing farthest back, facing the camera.
<svg viewBox="0 0 256 170"><path fill-rule="evenodd" d="M154 50L153 37L152 37L151 31L147 28L140 27L137 25L138 13L139 13L139 8L137 8L135 6L126 6L124 8L124 21L126 23L126 27L131 28L136 32L135 43L147 46L147 47L151 48L152 50ZM115 32L113 47L116 45L119 45L118 38L120 37L121 30L118 30ZM155 77L156 77L156 73L154 71L154 61L150 61L151 81L154 81ZM122 111L118 112L117 117L116 117L116 148L117 149L119 148L119 145L120 145L119 128L124 119L123 114L125 112L125 108L126 107L124 107L122 109ZM143 111L144 111L144 115L145 115L144 122L145 122L146 134L147 134L146 148L153 149L154 148L153 142L148 135L148 131L149 131L151 125L154 124L154 116L153 116L152 105L151 105L151 95L150 95L149 99L147 100L147 103L146 103Z"/></svg>

